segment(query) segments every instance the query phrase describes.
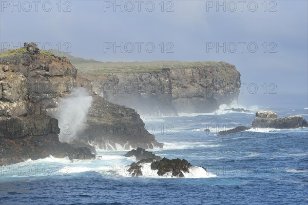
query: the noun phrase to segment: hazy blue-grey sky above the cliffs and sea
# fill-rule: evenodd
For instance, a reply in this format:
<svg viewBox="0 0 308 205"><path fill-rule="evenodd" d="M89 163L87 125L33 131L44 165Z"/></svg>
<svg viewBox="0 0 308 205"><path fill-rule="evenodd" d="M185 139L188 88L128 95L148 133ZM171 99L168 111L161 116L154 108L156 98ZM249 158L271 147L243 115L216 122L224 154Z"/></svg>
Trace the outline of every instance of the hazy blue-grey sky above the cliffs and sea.
<svg viewBox="0 0 308 205"><path fill-rule="evenodd" d="M247 98L308 92L307 1L0 2L1 49L37 42L100 61L226 61Z"/></svg>

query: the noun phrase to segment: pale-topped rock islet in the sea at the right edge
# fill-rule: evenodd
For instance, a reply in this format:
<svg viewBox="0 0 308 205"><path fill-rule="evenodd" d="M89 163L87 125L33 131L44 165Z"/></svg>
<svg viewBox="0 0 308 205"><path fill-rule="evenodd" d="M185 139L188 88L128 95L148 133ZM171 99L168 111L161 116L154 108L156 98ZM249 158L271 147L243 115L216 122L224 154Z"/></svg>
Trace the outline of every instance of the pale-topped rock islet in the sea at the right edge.
<svg viewBox="0 0 308 205"><path fill-rule="evenodd" d="M277 118L273 111L258 111L252 123L255 128L294 129L308 127L307 121L300 115Z"/></svg>

